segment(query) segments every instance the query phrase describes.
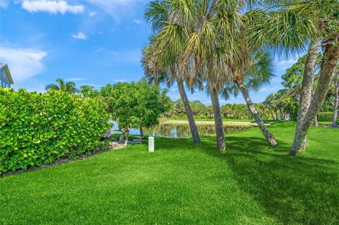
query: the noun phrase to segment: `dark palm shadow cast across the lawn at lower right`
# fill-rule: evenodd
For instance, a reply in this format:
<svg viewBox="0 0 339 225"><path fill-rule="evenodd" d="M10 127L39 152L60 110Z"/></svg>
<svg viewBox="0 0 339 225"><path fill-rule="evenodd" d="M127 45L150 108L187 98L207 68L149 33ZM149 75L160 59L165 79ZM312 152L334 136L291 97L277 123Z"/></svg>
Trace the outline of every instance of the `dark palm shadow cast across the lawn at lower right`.
<svg viewBox="0 0 339 225"><path fill-rule="evenodd" d="M287 155L288 144L227 137L227 150L207 142L206 154L225 160L245 193L282 224L339 224L339 168L333 159Z"/></svg>

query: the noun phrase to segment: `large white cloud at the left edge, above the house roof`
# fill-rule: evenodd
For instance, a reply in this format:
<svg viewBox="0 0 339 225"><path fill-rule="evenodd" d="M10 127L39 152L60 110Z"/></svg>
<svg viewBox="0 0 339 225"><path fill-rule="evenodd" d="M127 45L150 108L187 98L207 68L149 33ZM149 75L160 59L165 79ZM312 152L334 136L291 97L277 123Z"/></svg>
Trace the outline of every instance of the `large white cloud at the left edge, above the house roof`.
<svg viewBox="0 0 339 225"><path fill-rule="evenodd" d="M16 81L27 80L42 73L44 70L42 59L46 56L47 52L37 49L1 46L0 60L8 64L14 83L16 83Z"/></svg>

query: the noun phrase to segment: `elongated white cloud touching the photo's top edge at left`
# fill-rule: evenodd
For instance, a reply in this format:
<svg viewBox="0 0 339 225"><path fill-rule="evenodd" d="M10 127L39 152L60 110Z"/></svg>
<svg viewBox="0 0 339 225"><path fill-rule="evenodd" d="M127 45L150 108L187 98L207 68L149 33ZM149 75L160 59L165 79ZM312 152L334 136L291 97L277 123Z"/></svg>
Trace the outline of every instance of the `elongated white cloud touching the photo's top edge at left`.
<svg viewBox="0 0 339 225"><path fill-rule="evenodd" d="M78 14L82 13L84 8L81 5L69 5L64 0L24 0L21 6L30 13L42 11L53 14Z"/></svg>

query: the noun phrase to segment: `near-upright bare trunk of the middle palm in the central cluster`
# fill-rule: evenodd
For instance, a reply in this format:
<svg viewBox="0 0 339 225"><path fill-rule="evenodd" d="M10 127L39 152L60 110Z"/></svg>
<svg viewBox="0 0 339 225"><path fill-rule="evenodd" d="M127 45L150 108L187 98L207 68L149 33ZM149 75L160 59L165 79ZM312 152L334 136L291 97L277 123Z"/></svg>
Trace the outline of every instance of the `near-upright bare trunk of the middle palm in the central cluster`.
<svg viewBox="0 0 339 225"><path fill-rule="evenodd" d="M213 88L210 90L210 99L212 100L212 107L214 112L215 131L217 133L218 149L224 151L226 149L224 124L222 123L218 91Z"/></svg>

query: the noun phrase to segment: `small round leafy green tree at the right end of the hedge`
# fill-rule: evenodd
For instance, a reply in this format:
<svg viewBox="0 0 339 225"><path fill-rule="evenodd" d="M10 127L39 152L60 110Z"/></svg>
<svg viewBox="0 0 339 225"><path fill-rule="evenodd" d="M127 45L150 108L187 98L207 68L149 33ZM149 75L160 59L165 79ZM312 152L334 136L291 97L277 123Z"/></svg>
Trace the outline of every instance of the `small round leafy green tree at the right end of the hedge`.
<svg viewBox="0 0 339 225"><path fill-rule="evenodd" d="M143 78L138 83L117 83L100 89L100 95L108 104L112 119L119 123L120 141L129 140L131 128L151 128L158 122L160 114L167 110L167 90L160 92L156 85L148 85Z"/></svg>

